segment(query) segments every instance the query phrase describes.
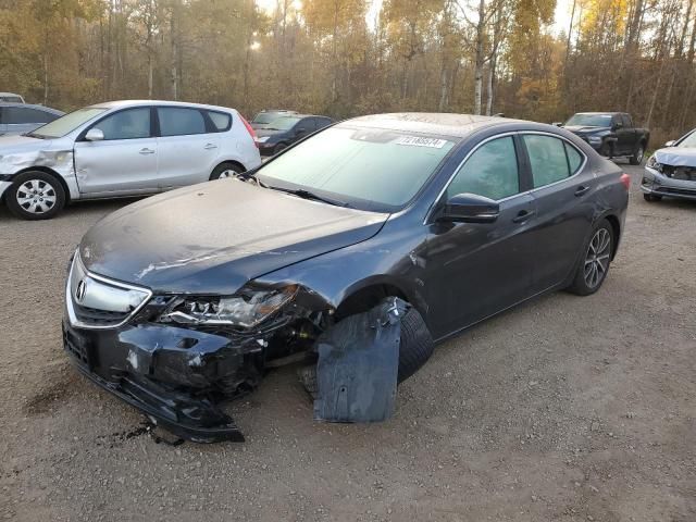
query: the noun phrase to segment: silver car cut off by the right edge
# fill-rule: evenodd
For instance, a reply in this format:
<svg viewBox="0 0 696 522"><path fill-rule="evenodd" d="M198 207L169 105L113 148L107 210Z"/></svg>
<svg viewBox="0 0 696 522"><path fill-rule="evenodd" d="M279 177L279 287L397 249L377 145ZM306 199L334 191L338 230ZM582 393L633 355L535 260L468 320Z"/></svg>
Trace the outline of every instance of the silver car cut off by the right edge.
<svg viewBox="0 0 696 522"><path fill-rule="evenodd" d="M648 158L641 190L646 201L696 200L696 129L664 144Z"/></svg>

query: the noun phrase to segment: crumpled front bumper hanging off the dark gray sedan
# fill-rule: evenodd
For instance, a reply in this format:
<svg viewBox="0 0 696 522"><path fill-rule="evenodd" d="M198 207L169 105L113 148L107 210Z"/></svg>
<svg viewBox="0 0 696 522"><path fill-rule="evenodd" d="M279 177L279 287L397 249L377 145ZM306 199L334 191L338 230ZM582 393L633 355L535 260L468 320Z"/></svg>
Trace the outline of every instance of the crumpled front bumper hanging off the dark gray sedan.
<svg viewBox="0 0 696 522"><path fill-rule="evenodd" d="M64 320L63 346L83 374L174 435L244 442L211 397L216 382L245 364L244 350L228 338L157 324L91 331Z"/></svg>

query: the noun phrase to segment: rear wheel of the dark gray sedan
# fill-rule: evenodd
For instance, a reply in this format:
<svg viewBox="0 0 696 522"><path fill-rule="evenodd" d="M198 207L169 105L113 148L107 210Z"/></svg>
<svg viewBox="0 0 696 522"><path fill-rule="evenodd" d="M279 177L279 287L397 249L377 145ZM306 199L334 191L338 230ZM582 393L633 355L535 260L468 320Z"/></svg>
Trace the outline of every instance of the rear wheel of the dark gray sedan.
<svg viewBox="0 0 696 522"><path fill-rule="evenodd" d="M614 240L611 223L601 220L592 232L569 291L589 296L601 287L609 272Z"/></svg>

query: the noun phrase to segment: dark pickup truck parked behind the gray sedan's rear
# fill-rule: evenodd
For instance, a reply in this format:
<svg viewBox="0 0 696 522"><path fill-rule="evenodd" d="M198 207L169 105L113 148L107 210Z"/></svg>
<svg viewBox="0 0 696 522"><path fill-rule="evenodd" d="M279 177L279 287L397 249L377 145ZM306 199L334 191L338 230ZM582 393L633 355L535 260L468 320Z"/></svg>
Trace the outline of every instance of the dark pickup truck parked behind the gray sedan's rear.
<svg viewBox="0 0 696 522"><path fill-rule="evenodd" d="M556 125L580 136L601 156L627 157L632 165L641 164L650 139L650 132L635 128L625 112L579 112Z"/></svg>

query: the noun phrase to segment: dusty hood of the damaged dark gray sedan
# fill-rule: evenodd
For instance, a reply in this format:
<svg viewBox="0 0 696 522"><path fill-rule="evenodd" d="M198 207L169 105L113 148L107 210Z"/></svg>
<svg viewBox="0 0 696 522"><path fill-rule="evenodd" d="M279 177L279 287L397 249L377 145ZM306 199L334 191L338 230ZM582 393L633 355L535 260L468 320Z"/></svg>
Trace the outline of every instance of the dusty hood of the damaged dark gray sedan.
<svg viewBox="0 0 696 522"><path fill-rule="evenodd" d="M79 254L87 270L156 293L231 295L269 272L364 241L387 217L221 179L110 214L85 235Z"/></svg>

